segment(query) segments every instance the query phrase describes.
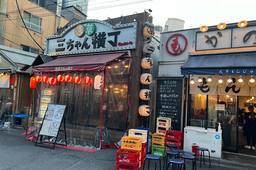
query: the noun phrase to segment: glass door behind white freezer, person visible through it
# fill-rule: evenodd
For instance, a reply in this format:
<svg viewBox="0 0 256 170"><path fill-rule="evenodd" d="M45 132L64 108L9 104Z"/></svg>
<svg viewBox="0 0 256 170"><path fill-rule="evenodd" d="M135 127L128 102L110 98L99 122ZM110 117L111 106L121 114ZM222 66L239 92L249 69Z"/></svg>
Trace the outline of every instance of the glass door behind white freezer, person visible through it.
<svg viewBox="0 0 256 170"><path fill-rule="evenodd" d="M218 104L225 104L224 111L218 111L218 122L222 128L222 149L238 152L237 96L218 96Z"/></svg>

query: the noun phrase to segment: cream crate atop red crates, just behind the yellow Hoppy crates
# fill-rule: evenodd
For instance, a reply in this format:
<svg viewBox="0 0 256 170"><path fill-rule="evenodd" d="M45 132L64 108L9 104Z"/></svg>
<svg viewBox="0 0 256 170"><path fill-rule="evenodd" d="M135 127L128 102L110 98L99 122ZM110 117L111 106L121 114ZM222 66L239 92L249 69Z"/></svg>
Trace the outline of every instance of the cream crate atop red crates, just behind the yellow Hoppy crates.
<svg viewBox="0 0 256 170"><path fill-rule="evenodd" d="M130 137L139 137L142 139L142 147L140 152L140 165L144 166L144 160L147 155L147 140L148 140L148 131L147 130L139 130L139 129L130 129L128 136Z"/></svg>

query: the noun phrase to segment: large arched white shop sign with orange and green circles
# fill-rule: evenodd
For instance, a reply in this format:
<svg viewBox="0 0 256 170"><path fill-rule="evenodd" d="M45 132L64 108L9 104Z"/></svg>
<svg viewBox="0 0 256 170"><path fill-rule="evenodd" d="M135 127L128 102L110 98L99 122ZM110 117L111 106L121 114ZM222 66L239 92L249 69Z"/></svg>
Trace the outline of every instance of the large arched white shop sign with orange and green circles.
<svg viewBox="0 0 256 170"><path fill-rule="evenodd" d="M116 24L89 19L68 27L62 34L46 38L45 53L50 56L136 48L137 23Z"/></svg>

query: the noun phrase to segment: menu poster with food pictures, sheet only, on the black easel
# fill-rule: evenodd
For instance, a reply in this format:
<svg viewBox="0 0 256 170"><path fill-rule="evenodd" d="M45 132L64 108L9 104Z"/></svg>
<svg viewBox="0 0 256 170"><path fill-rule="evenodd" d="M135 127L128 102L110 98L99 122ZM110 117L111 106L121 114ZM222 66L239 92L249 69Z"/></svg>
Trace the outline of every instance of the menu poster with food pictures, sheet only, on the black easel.
<svg viewBox="0 0 256 170"><path fill-rule="evenodd" d="M66 105L48 104L39 135L57 137Z"/></svg>

